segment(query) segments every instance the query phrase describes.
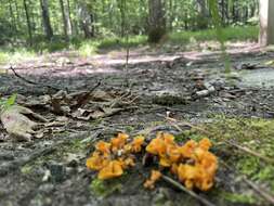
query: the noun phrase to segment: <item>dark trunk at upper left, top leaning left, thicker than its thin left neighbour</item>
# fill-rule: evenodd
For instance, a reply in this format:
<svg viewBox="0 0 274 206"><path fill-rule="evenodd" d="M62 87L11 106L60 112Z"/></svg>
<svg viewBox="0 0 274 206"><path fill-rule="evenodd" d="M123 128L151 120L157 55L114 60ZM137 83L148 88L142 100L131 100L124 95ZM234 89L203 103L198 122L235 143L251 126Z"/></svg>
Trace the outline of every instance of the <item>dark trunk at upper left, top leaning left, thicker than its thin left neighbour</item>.
<svg viewBox="0 0 274 206"><path fill-rule="evenodd" d="M42 10L42 22L43 22L44 34L45 34L47 39L50 40L53 37L53 30L52 30L51 22L50 22L48 0L40 0L40 5Z"/></svg>

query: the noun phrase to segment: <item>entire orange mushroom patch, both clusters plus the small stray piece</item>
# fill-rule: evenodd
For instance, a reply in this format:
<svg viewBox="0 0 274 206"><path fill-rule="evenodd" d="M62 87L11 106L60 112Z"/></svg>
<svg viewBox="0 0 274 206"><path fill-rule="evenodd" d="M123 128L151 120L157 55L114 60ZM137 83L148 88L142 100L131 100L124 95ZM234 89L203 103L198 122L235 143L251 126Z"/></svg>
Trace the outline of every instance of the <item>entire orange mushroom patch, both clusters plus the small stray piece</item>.
<svg viewBox="0 0 274 206"><path fill-rule="evenodd" d="M135 154L144 151L145 138L140 136L129 141L129 136L118 133L109 142L100 141L95 151L87 159L87 167L99 171L101 180L120 177L125 169L135 165ZM159 132L145 147L146 153L154 155L162 170L170 170L187 189L208 191L213 185L218 168L217 157L209 152L211 142L205 138L199 142L187 141L180 145L170 133ZM144 183L153 189L161 172L153 170Z"/></svg>

